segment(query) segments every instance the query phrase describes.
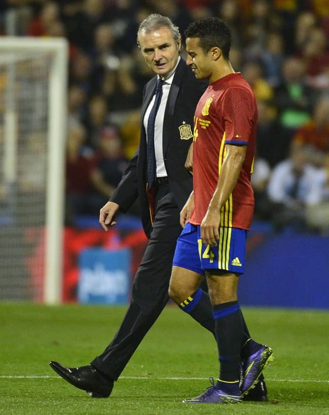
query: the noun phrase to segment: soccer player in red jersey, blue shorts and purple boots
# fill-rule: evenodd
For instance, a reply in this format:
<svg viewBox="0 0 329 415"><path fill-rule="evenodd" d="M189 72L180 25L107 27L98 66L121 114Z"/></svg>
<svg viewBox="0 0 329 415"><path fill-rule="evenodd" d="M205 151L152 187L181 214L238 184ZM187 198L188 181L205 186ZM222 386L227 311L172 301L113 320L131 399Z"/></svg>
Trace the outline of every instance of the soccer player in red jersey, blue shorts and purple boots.
<svg viewBox="0 0 329 415"><path fill-rule="evenodd" d="M194 115L193 191L180 212L170 297L186 312L197 307L206 276L215 320L220 376L186 403L235 403L257 383L270 347L250 338L237 300L254 199L257 106L253 92L230 61L230 29L218 18L185 31L187 64L210 85Z"/></svg>

